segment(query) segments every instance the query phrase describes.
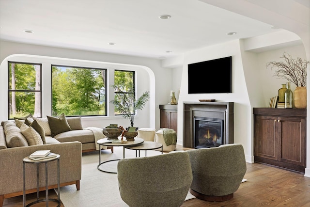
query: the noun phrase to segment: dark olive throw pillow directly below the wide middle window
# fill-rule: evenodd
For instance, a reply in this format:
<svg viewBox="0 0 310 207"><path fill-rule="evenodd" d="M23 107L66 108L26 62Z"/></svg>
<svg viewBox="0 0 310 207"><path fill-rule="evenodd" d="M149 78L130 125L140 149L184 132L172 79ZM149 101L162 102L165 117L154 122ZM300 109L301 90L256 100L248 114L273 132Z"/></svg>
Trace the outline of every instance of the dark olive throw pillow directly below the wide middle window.
<svg viewBox="0 0 310 207"><path fill-rule="evenodd" d="M52 137L56 136L59 133L71 130L64 113L62 113L58 117L47 116L47 119L50 130L52 132Z"/></svg>

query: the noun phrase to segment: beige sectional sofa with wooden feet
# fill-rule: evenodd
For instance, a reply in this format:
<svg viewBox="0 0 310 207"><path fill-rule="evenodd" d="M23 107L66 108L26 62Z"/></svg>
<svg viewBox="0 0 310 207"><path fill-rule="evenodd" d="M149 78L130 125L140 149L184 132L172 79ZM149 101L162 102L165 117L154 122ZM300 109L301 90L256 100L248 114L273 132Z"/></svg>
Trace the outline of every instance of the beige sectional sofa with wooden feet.
<svg viewBox="0 0 310 207"><path fill-rule="evenodd" d="M98 131L102 131L100 128L91 127L90 130L83 129L81 117L67 117L66 119L70 126L70 130L52 137L48 135L50 133L48 132L49 129L46 129L47 135L45 136L45 144L40 145L29 145L29 140L26 138L27 136L25 137L21 132L20 127L16 126L19 121L1 122L0 207L2 207L5 198L23 194L22 159L36 150L50 150L53 153L60 154L61 186L75 184L77 190L79 190L82 152L96 150L95 136L97 139L100 139L103 138L104 135L98 133ZM46 119L40 121L46 121ZM44 124L42 124L42 126L43 125ZM57 187L57 162L53 161L48 163L48 165L48 185L49 189L52 189ZM26 165L26 193L36 192L35 172L35 165ZM40 191L43 191L45 190L45 174L43 166L40 168L39 173Z"/></svg>

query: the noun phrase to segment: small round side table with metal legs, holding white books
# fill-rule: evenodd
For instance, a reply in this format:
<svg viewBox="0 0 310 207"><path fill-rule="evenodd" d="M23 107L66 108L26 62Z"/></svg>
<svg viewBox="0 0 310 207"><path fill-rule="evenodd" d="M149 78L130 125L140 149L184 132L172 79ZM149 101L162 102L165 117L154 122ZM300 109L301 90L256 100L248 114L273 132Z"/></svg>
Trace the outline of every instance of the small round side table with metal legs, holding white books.
<svg viewBox="0 0 310 207"><path fill-rule="evenodd" d="M58 203L57 207L60 207L61 205L61 201L60 201L60 171L59 171L59 159L60 159L60 155L57 154L56 157L54 158L47 158L47 159L41 159L41 160L32 160L30 158L25 157L23 159L23 207L30 207L31 205L34 205L36 203L40 203L40 202L46 202L46 206L48 207L48 201L54 201ZM55 161L57 160L57 185L58 185L58 190L57 190L57 194L58 194L58 199L54 199L54 198L48 198L48 177L47 177L47 163L51 162L51 161ZM30 204L28 204L26 206L26 163L28 164L36 164L37 167L37 200L31 202ZM40 197L40 191L39 191L39 164L40 163L45 163L45 191L46 191L46 198L45 199L39 199Z"/></svg>

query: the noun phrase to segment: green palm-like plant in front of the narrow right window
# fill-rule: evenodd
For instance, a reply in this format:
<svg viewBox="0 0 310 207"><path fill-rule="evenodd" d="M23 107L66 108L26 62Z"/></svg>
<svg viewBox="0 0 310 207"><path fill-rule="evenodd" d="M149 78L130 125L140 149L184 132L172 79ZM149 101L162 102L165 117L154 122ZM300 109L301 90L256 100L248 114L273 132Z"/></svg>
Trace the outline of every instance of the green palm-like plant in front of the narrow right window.
<svg viewBox="0 0 310 207"><path fill-rule="evenodd" d="M118 86L112 85L114 88L115 98L110 103L114 104L116 111L122 113L125 119L129 119L131 127L134 126L135 113L142 110L146 102L150 98L150 92L144 92L138 99L136 99L134 88L131 87L128 92L122 91Z"/></svg>

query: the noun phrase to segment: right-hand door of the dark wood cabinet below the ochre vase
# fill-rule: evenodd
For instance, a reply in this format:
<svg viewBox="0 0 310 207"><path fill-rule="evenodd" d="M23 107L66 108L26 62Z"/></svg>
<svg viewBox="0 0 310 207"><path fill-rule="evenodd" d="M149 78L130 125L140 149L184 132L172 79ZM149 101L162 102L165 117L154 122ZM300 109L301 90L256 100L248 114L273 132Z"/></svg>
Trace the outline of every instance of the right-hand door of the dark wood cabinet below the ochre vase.
<svg viewBox="0 0 310 207"><path fill-rule="evenodd" d="M280 161L305 167L306 120L289 117L279 117L278 120L278 125L281 128Z"/></svg>

